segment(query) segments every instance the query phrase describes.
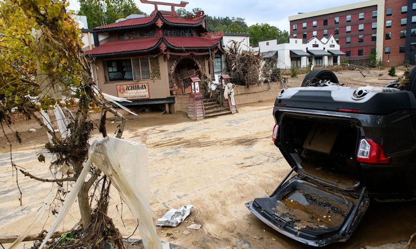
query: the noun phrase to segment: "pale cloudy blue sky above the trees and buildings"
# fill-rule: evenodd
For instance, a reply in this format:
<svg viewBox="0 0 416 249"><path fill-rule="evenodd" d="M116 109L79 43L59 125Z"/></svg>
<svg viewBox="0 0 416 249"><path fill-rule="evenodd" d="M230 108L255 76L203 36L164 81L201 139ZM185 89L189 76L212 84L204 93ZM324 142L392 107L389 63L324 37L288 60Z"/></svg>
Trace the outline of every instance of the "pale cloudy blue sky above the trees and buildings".
<svg viewBox="0 0 416 249"><path fill-rule="evenodd" d="M153 4L144 4L134 0L137 6L150 14ZM180 0L159 0L179 2ZM211 16L243 17L250 26L255 23L269 23L279 29L289 30L288 16L298 12L310 12L336 7L362 0L188 0L187 10L200 7ZM70 0L70 9L79 9L78 0ZM159 9L166 9L160 7Z"/></svg>

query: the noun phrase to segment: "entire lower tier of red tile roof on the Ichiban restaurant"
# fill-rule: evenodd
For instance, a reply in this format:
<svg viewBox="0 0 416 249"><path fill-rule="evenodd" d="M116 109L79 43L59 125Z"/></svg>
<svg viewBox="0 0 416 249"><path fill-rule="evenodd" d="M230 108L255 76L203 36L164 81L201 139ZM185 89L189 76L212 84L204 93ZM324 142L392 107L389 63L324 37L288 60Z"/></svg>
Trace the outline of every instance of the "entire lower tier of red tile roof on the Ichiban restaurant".
<svg viewBox="0 0 416 249"><path fill-rule="evenodd" d="M85 52L86 55L114 54L130 51L153 50L157 48L159 41L165 42L171 48L212 48L220 38L204 38L197 36L164 36L162 38L149 37L139 39L127 39L109 41Z"/></svg>

